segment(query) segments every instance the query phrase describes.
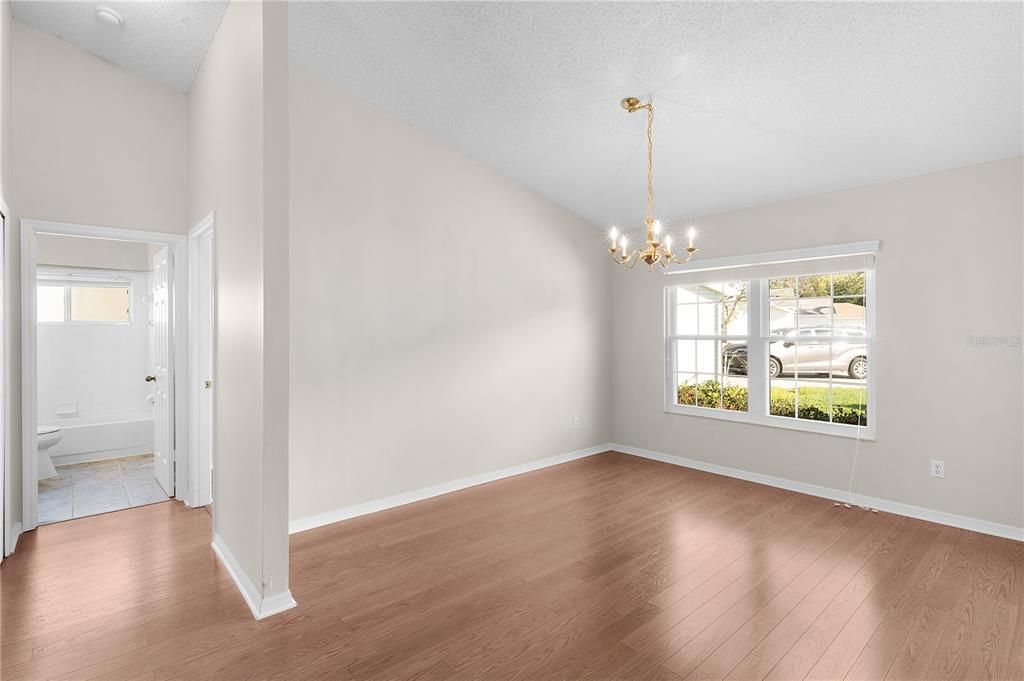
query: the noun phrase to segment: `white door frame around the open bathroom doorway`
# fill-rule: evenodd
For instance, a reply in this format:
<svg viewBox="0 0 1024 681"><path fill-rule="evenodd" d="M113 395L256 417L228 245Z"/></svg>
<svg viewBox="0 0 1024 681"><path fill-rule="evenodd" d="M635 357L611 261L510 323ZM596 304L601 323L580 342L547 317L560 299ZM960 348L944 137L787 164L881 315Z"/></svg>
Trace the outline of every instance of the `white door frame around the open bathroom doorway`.
<svg viewBox="0 0 1024 681"><path fill-rule="evenodd" d="M187 249L184 235L142 229L99 227L66 222L22 218L22 524L25 530L38 524L38 464L36 428L38 426L38 377L36 357L36 236L59 235L114 241L143 242L167 246L171 253L171 382L174 405L174 491L175 497L187 498L188 491L188 322Z"/></svg>

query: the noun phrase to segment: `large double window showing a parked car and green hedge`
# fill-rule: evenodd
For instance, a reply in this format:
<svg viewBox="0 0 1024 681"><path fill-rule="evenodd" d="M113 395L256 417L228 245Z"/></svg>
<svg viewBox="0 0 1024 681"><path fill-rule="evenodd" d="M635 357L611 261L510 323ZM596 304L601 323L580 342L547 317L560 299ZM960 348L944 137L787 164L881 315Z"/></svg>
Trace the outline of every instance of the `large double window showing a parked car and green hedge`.
<svg viewBox="0 0 1024 681"><path fill-rule="evenodd" d="M667 287L667 411L872 437L873 272L817 267Z"/></svg>

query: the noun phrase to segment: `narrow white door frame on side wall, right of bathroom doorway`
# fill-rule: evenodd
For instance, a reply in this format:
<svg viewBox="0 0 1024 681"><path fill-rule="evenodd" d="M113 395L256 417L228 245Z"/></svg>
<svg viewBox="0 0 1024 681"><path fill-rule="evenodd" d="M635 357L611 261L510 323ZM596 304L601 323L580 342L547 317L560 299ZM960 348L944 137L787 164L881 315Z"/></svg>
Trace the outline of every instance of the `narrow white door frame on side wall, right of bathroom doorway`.
<svg viewBox="0 0 1024 681"><path fill-rule="evenodd" d="M211 245L214 257L210 263L213 274L210 281L210 296L213 300L211 301L211 318L207 323L211 326L210 344L213 354L211 363L213 363L216 361L217 356L217 236L214 225L215 214L210 213L188 231L188 405L190 411L188 413L189 483L187 504L189 506L205 506L213 500L213 490L210 488L210 481L206 479L204 474L204 471L210 470L210 457L213 456L213 452L212 449L210 452L204 452L200 444L201 418L199 411L202 403L201 391L205 389L203 381L212 379L213 376L204 377L200 375L202 370L200 366L200 329L202 328L203 321L199 320L199 296L202 294L199 286L199 245L201 239L209 238L212 240ZM216 374L216 365L214 365L214 374ZM217 389L216 383L214 383L213 389ZM210 427L214 428L217 417L215 400L211 405L210 410Z"/></svg>

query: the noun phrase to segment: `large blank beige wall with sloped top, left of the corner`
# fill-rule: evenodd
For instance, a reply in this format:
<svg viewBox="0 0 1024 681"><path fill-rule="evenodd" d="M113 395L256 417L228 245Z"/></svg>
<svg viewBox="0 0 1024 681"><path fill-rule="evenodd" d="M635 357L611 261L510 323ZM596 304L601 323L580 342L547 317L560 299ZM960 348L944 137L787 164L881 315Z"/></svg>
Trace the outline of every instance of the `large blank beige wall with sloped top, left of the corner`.
<svg viewBox="0 0 1024 681"><path fill-rule="evenodd" d="M291 88L292 519L607 441L597 228L302 67Z"/></svg>

